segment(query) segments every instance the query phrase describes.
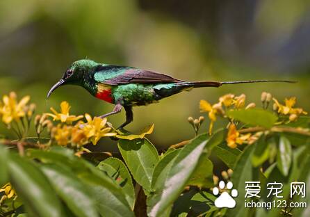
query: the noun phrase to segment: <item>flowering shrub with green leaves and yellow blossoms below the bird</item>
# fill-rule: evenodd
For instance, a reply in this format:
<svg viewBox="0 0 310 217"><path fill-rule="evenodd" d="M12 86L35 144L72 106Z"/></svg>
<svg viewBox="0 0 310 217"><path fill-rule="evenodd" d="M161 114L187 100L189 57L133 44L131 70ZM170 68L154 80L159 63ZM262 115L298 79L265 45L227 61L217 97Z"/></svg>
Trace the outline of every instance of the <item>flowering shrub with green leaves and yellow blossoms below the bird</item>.
<svg viewBox="0 0 310 217"><path fill-rule="evenodd" d="M106 118L71 115L67 102L60 112L34 116L29 100L10 93L0 106L1 121L17 136L0 140L0 216L302 215L303 209L245 209L247 181L280 182L284 200L309 200L289 197L291 182L310 177L310 117L295 107L295 97L281 104L263 93L261 108L246 106L245 95L224 95L213 105L202 100L209 130L203 117L188 118L195 138L161 153L145 138L154 125L131 134ZM214 129L218 120L222 128ZM32 122L37 136L29 138ZM102 137L117 140L120 154L85 148ZM219 179L238 190L234 209L215 207ZM254 200L275 198L262 190Z"/></svg>

